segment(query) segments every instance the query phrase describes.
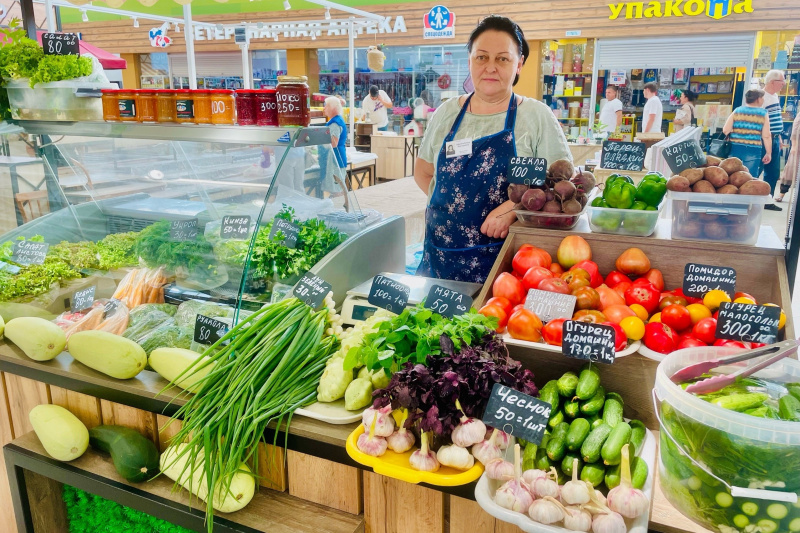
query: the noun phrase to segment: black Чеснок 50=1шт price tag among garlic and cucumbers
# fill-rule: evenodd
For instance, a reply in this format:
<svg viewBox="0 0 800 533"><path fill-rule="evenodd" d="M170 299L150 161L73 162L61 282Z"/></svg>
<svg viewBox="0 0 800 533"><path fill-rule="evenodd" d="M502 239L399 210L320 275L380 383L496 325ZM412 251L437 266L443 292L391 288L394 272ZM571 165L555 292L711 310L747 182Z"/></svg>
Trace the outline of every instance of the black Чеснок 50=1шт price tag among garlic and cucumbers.
<svg viewBox="0 0 800 533"><path fill-rule="evenodd" d="M552 406L538 398L495 383L483 423L537 446L542 443Z"/></svg>

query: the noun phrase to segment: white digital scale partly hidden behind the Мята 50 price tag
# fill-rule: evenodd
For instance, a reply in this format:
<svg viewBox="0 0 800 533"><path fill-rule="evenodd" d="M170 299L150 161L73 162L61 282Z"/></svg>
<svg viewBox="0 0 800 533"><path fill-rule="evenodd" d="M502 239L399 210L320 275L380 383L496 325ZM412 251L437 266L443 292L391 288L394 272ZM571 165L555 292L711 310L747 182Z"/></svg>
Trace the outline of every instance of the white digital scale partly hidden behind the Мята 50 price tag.
<svg viewBox="0 0 800 533"><path fill-rule="evenodd" d="M472 298L475 298L483 287L480 283L424 278L422 276L409 276L407 274L393 274L390 272L382 272L380 275L391 278L411 288L411 294L408 297L408 304L406 307L414 307L424 300L425 297L428 296L431 287L434 285L441 285L442 287L458 291L462 294L467 294ZM370 278L364 283L347 291L347 296L344 299L344 303L342 303L341 312L342 320L345 324L355 325L358 322L363 322L378 310L376 306L367 302L373 279L375 278Z"/></svg>

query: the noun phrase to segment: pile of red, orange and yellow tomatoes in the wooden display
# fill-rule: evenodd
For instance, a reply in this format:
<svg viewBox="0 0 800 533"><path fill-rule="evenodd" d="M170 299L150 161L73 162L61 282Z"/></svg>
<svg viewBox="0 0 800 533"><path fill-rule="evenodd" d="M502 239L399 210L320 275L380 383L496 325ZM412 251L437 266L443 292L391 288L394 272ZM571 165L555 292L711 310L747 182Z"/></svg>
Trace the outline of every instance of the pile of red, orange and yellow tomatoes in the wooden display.
<svg viewBox="0 0 800 533"><path fill-rule="evenodd" d="M515 339L560 346L562 325L568 319L543 324L524 307L528 291L538 289L575 296L572 320L613 327L617 351L625 349L628 341L639 340L662 354L698 346L761 346L715 336L719 306L730 301L755 304L747 293L737 292L731 299L721 290L709 291L703 298L688 296L680 288L666 291L661 271L651 268L649 258L638 248L625 250L616 260L616 270L603 277L591 260L589 244L580 236L566 237L557 259L530 244L520 247L512 271L497 277L492 298L479 312L498 318L498 332L507 330ZM781 312L779 327L785 322Z"/></svg>

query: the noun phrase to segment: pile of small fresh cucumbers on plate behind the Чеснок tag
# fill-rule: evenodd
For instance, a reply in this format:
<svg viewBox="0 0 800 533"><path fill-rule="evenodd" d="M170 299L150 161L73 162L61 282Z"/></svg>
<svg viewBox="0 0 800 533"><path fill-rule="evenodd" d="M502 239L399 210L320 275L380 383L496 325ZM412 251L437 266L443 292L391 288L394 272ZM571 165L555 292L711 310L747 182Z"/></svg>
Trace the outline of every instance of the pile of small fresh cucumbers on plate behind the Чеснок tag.
<svg viewBox="0 0 800 533"><path fill-rule="evenodd" d="M595 488L613 489L620 483L622 447L630 444L634 487L641 489L647 480L647 463L639 457L646 430L639 420L625 422L624 403L615 392L600 384L597 365L587 363L580 374L567 372L548 381L539 399L552 406L548 429L540 445L526 443L523 470L538 468L546 472L555 467L558 483L572 478L574 459L578 477Z"/></svg>

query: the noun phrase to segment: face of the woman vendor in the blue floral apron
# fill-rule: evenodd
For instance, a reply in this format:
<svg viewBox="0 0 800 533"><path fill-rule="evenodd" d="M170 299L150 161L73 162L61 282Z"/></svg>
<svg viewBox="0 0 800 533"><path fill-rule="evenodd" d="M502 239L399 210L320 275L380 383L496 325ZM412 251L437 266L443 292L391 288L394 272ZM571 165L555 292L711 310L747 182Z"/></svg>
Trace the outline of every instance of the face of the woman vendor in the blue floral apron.
<svg viewBox="0 0 800 533"><path fill-rule="evenodd" d="M472 43L469 73L481 98L507 95L521 69L519 47L509 34L487 30Z"/></svg>

